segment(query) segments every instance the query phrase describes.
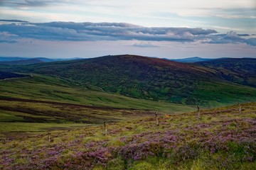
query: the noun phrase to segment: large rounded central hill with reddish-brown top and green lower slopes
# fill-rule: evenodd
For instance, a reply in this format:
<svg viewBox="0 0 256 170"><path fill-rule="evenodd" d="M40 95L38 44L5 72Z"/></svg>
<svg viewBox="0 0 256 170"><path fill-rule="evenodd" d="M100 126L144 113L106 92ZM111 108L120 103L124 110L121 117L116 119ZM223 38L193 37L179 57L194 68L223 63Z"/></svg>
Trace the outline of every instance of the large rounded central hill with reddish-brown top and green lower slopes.
<svg viewBox="0 0 256 170"><path fill-rule="evenodd" d="M255 88L224 79L218 69L136 55L48 62L16 67L16 71L61 77L80 86L154 101L214 106L256 98Z"/></svg>

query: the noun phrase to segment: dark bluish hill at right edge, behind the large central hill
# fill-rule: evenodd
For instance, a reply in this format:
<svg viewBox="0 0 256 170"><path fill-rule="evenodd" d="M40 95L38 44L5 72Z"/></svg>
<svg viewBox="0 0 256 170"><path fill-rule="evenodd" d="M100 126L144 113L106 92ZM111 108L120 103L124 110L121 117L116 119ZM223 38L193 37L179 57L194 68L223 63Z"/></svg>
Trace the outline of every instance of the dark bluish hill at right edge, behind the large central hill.
<svg viewBox="0 0 256 170"><path fill-rule="evenodd" d="M214 69L216 75L222 79L256 87L255 58L221 58L197 62L195 65Z"/></svg>

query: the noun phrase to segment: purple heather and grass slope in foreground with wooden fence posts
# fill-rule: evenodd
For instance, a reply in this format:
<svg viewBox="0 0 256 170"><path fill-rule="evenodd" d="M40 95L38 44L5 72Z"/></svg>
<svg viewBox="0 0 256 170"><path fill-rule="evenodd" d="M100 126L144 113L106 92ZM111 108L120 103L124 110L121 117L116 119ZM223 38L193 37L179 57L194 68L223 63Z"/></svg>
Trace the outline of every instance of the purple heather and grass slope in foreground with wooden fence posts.
<svg viewBox="0 0 256 170"><path fill-rule="evenodd" d="M255 169L256 103L1 137L1 169ZM50 137L50 138L48 138Z"/></svg>

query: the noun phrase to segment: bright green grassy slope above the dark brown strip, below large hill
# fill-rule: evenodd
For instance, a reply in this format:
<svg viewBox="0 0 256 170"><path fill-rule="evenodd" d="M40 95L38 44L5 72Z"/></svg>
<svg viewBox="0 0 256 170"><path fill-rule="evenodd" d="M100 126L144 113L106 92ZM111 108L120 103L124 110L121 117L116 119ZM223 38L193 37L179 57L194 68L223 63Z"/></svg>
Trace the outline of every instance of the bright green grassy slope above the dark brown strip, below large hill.
<svg viewBox="0 0 256 170"><path fill-rule="evenodd" d="M147 109L168 113L184 113L193 110L193 106L147 101L102 91L91 91L70 84L63 79L37 74L27 79L1 81L0 96L77 103L87 106Z"/></svg>

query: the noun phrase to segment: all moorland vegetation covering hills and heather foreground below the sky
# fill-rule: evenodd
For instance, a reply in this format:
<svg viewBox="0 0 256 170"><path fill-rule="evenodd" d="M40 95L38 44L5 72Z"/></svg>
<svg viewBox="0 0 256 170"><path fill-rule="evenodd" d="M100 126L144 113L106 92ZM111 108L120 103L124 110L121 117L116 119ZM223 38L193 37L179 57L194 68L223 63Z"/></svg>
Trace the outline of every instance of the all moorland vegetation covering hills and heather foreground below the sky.
<svg viewBox="0 0 256 170"><path fill-rule="evenodd" d="M0 64L0 169L256 169L254 60L223 61Z"/></svg>

